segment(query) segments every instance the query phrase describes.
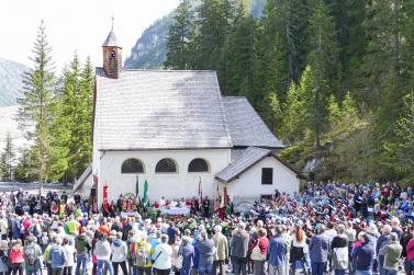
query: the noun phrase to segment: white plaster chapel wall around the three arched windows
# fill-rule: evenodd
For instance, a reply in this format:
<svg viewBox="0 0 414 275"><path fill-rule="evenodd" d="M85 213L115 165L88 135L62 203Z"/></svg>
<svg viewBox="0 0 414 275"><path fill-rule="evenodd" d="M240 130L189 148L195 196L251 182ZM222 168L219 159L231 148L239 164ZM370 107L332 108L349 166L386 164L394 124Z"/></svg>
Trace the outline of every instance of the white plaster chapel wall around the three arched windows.
<svg viewBox="0 0 414 275"><path fill-rule="evenodd" d="M98 204L102 204L102 187L109 185L109 202L115 202L120 194L134 193L136 174L121 174L121 165L128 158L139 159L145 173L139 176L139 193L143 195L144 181L148 181L150 200L198 196L201 177L203 196L213 197L216 184L214 175L228 165L230 149L200 150L155 150L155 151L107 151L100 158ZM178 163L178 173L155 173L157 162L172 158ZM209 173L188 173L188 165L195 158L205 159L210 164Z"/></svg>

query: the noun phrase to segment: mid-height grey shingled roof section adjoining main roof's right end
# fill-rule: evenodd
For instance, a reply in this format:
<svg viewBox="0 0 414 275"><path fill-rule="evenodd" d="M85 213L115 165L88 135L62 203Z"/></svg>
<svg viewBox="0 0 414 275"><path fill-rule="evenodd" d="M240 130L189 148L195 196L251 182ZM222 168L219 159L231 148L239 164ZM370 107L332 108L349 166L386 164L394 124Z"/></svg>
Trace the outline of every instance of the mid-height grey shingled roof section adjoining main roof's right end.
<svg viewBox="0 0 414 275"><path fill-rule="evenodd" d="M233 146L283 148L246 98L223 96Z"/></svg>

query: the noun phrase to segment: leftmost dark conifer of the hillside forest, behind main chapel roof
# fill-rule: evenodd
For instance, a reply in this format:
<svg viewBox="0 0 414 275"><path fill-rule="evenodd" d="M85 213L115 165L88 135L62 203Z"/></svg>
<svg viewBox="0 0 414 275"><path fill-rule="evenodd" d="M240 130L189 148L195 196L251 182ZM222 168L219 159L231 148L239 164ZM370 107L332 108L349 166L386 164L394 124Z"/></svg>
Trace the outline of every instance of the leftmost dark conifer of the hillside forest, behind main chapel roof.
<svg viewBox="0 0 414 275"><path fill-rule="evenodd" d="M192 65L190 43L192 39L191 5L182 0L175 11L174 23L169 28L166 68L184 70Z"/></svg>

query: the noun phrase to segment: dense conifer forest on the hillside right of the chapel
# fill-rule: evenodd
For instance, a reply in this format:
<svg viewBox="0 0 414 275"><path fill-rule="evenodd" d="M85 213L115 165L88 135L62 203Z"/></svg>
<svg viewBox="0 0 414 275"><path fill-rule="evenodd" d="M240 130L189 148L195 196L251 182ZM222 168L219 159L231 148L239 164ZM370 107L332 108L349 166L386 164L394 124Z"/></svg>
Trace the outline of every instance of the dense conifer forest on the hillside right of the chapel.
<svg viewBox="0 0 414 275"><path fill-rule="evenodd" d="M414 2L182 0L166 69L216 70L316 180L414 180Z"/></svg>

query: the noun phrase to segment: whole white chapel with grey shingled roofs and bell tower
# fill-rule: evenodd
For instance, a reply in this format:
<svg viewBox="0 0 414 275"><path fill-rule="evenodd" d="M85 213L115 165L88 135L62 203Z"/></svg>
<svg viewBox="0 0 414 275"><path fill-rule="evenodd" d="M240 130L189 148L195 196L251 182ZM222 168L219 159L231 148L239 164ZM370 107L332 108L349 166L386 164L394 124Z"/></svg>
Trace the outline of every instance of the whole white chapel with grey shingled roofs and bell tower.
<svg viewBox="0 0 414 275"><path fill-rule="evenodd" d="M109 202L148 182L150 200L213 198L226 186L234 202L299 191L300 173L276 156L283 145L246 98L221 94L215 71L126 70L111 31L102 45L93 94L93 160L75 192L89 196L98 177ZM142 187L141 187L142 188Z"/></svg>

